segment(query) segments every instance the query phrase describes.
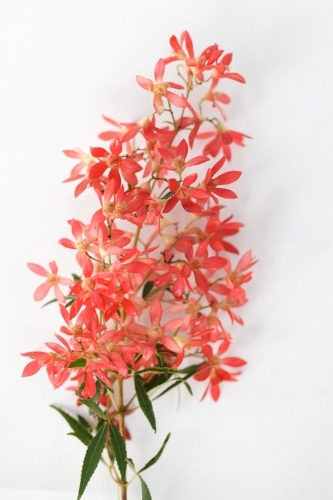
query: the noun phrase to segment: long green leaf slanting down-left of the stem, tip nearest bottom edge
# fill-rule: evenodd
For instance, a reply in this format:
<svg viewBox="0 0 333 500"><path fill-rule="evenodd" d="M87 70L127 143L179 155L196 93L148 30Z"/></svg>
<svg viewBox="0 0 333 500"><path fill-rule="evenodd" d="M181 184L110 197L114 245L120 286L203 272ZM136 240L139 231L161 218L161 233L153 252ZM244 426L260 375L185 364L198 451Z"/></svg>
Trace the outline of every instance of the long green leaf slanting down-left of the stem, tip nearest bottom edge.
<svg viewBox="0 0 333 500"><path fill-rule="evenodd" d="M81 481L77 500L80 500L82 497L84 490L86 489L87 484L89 483L90 478L95 472L98 462L101 459L106 441L106 429L107 423L104 423L87 448L82 465Z"/></svg>

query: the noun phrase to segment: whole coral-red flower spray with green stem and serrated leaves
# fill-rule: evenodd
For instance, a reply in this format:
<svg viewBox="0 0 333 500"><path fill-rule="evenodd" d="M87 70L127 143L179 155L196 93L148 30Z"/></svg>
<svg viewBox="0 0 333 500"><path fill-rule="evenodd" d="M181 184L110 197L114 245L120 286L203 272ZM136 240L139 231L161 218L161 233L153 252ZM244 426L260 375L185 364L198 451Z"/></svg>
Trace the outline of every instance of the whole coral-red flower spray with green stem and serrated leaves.
<svg viewBox="0 0 333 500"><path fill-rule="evenodd" d="M230 70L232 54L216 44L195 55L187 31L170 44L173 53L159 59L154 80L136 77L152 93L152 113L132 123L104 117L111 129L99 135L105 148L64 151L78 161L65 182L77 182L75 196L92 189L97 200L91 220L70 220L72 238L59 241L80 272L69 279L55 262L50 271L28 264L45 279L35 300L53 288L63 325L57 342L46 343L49 351L23 354L33 358L23 376L45 367L53 386L70 381L67 388L90 412L74 418L55 407L87 446L78 499L102 461L122 500L137 476L149 500L141 473L159 459L169 435L138 470L126 453L127 417L141 408L156 430L152 395L180 385L191 393L194 379L205 386L203 398L209 392L217 401L221 384L235 381L245 364L225 354L232 343L226 324L243 324L235 310L247 300L243 285L255 261L249 250L232 264L239 252L230 238L243 224L221 215L221 201L237 198L229 185L241 172L226 166L233 145L248 136L227 128L230 98L217 90L225 78L245 80ZM164 80L171 64L180 83ZM192 92L204 85L194 106ZM207 103L217 116L203 111ZM191 153L194 144L203 144L201 154Z"/></svg>

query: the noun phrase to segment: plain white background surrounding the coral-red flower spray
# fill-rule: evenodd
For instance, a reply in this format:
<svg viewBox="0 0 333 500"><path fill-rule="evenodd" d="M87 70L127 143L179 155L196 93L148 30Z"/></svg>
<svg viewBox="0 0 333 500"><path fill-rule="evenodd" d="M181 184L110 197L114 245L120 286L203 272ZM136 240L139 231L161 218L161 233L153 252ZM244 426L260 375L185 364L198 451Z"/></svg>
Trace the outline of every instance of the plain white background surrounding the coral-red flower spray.
<svg viewBox="0 0 333 500"><path fill-rule="evenodd" d="M260 259L234 330L248 365L218 403L199 403L198 385L179 410L176 393L156 402L156 436L138 414L129 455L140 466L172 432L144 475L154 500L333 498L332 10L329 0L1 2L1 500L75 499L84 455L49 408L75 410L72 396L45 373L20 378L19 353L61 323L33 302L40 281L26 262L73 271L57 241L66 220L92 212L89 194L74 200L61 184L73 165L61 150L100 144L102 113L149 112L135 75L151 77L184 29L197 51L234 52L247 79L228 86L228 123L254 138L232 163L244 172L237 242ZM85 495L116 498L102 466Z"/></svg>

